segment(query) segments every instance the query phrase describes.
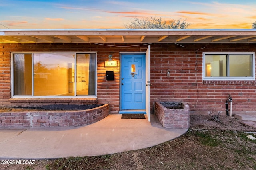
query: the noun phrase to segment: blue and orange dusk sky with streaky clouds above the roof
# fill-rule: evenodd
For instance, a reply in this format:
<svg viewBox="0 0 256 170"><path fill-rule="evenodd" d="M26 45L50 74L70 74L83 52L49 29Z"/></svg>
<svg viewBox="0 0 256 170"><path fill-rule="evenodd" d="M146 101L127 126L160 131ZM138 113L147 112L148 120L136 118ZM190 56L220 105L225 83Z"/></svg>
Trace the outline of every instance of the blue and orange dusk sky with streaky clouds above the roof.
<svg viewBox="0 0 256 170"><path fill-rule="evenodd" d="M256 0L0 0L0 29L125 28L135 17L190 29L252 28Z"/></svg>

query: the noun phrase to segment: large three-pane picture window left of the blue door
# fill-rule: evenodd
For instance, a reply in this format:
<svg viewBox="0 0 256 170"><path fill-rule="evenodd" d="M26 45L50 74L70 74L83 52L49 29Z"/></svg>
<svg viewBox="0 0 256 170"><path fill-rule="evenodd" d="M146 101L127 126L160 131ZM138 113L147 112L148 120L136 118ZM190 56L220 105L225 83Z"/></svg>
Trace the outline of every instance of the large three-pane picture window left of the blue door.
<svg viewBox="0 0 256 170"><path fill-rule="evenodd" d="M12 57L12 96L96 96L96 53Z"/></svg>

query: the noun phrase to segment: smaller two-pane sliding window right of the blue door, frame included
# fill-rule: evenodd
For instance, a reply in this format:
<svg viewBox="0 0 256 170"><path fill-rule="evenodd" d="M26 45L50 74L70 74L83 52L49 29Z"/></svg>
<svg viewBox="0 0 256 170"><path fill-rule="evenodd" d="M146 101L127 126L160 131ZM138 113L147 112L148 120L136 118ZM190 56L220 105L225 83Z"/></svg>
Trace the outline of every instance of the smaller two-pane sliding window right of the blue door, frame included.
<svg viewBox="0 0 256 170"><path fill-rule="evenodd" d="M203 53L204 80L255 80L254 53Z"/></svg>

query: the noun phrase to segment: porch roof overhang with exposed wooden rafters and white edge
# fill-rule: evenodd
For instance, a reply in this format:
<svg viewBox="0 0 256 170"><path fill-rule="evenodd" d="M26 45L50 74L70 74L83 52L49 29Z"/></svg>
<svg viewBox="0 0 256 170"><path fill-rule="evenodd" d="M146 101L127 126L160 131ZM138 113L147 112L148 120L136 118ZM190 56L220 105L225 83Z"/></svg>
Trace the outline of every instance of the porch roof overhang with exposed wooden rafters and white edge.
<svg viewBox="0 0 256 170"><path fill-rule="evenodd" d="M256 29L0 29L0 43L256 43Z"/></svg>

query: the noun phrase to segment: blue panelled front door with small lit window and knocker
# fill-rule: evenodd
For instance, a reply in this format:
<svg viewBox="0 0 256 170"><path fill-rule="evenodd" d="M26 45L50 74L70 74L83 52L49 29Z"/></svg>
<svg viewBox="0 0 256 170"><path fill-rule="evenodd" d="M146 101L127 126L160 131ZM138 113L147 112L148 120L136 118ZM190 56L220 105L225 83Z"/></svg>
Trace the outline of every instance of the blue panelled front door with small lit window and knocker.
<svg viewBox="0 0 256 170"><path fill-rule="evenodd" d="M145 54L121 55L121 111L146 109Z"/></svg>

